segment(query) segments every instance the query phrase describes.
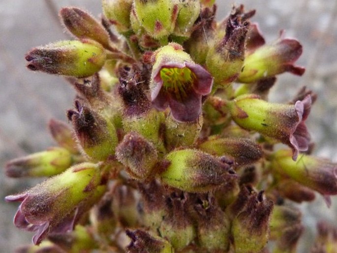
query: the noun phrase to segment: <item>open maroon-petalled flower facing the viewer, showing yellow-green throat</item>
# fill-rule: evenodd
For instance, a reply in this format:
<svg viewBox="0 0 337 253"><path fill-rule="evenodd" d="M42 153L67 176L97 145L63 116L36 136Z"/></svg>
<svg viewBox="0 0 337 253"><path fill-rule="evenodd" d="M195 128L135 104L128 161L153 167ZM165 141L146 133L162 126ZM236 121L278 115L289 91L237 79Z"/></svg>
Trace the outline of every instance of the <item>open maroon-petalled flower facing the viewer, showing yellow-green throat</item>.
<svg viewBox="0 0 337 253"><path fill-rule="evenodd" d="M154 52L151 101L158 110L169 107L175 120L196 120L202 96L211 92L212 85L212 75L195 64L181 45L170 43Z"/></svg>

